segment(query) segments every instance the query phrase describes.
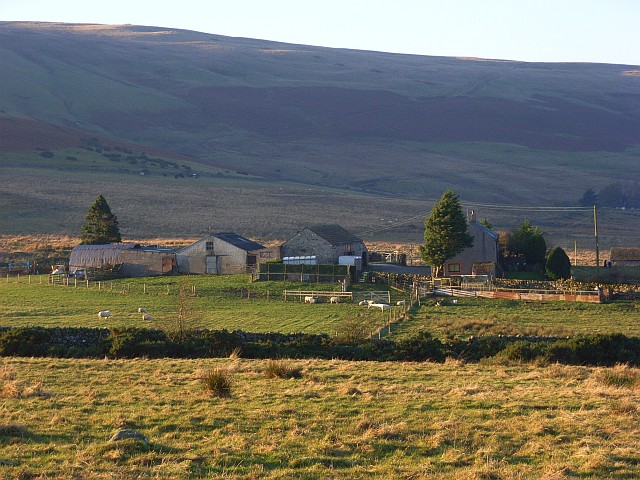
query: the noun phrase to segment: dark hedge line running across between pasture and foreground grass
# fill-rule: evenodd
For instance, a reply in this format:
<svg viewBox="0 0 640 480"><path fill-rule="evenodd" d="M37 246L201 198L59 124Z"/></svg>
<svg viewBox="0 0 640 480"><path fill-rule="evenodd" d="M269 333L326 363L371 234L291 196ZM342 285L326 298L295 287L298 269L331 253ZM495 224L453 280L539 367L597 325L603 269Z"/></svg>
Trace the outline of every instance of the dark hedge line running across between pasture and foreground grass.
<svg viewBox="0 0 640 480"><path fill-rule="evenodd" d="M323 358L373 361L551 362L640 365L640 338L580 335L569 339L486 336L450 343L420 332L400 340L352 340L311 334L200 330L182 336L144 328L0 328L0 356L63 358Z"/></svg>

